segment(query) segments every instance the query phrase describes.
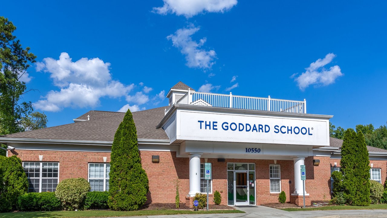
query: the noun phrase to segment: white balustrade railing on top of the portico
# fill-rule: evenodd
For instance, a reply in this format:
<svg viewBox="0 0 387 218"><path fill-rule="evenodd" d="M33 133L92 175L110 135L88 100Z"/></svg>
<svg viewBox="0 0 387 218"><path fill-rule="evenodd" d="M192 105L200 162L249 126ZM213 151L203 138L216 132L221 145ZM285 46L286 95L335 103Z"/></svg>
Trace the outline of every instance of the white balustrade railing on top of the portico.
<svg viewBox="0 0 387 218"><path fill-rule="evenodd" d="M214 94L195 92L188 89L185 94L176 104L182 105L199 105L211 106L219 108L236 108L245 110L265 110L273 112L289 112L289 113L307 113L307 102L291 101L270 98L258 98L248 96L237 96L230 94ZM168 113L170 108L165 110Z"/></svg>

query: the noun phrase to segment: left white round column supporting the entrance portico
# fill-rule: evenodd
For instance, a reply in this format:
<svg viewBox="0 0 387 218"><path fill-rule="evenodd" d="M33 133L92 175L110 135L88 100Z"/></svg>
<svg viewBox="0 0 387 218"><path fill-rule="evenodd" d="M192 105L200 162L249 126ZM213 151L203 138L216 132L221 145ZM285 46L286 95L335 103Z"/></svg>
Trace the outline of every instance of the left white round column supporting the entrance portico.
<svg viewBox="0 0 387 218"><path fill-rule="evenodd" d="M190 157L190 192L188 196L192 197L200 192L200 156L202 154L189 154Z"/></svg>

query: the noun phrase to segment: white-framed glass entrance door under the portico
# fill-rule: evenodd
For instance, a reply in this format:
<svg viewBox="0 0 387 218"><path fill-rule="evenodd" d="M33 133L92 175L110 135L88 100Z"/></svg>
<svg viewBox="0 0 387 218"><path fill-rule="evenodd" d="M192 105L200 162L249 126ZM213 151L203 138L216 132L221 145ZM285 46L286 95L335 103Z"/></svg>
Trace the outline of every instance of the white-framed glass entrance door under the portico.
<svg viewBox="0 0 387 218"><path fill-rule="evenodd" d="M248 171L235 171L235 205L249 204Z"/></svg>

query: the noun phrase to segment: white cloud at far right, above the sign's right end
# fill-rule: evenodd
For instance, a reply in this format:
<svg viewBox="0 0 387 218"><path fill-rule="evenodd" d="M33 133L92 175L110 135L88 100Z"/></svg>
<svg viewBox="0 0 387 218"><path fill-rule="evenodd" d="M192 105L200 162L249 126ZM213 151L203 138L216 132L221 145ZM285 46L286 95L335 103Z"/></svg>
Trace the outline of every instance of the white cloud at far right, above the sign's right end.
<svg viewBox="0 0 387 218"><path fill-rule="evenodd" d="M333 58L336 57L334 53L329 53L324 59L319 58L317 61L310 64L309 67L305 68L300 76L295 78L298 88L304 91L308 86L315 84L315 86L327 86L335 82L337 77L343 76L341 69L338 65L325 69L324 66L332 62ZM293 74L291 78L297 74Z"/></svg>

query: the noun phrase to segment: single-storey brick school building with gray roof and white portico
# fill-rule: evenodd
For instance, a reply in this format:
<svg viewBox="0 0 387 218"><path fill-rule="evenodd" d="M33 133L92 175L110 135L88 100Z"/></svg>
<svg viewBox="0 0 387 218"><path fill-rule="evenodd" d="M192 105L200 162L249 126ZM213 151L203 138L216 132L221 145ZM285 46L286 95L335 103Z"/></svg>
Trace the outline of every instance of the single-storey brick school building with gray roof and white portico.
<svg viewBox="0 0 387 218"><path fill-rule="evenodd" d="M149 178L148 203L192 206L197 192L219 191L222 204L278 202L285 191L302 204L300 166L306 166L307 204L328 201L330 174L340 167L342 140L329 137L330 115L308 114L306 101L200 93L182 82L167 94L169 106L133 113L142 167ZM55 191L70 177L109 189L110 151L125 113L89 111L73 123L0 137L17 155L29 192ZM369 147L371 179L384 183L387 150ZM204 163L212 164L207 187ZM211 199L211 198L210 198Z"/></svg>

